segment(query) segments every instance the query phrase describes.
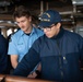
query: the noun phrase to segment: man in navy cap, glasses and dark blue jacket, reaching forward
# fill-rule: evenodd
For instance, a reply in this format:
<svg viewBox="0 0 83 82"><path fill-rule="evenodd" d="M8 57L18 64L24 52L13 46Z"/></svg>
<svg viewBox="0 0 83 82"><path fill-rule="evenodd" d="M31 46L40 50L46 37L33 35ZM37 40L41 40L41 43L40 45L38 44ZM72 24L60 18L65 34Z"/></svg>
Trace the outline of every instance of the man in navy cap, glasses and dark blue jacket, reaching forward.
<svg viewBox="0 0 83 82"><path fill-rule="evenodd" d="M39 28L45 35L33 44L13 74L26 77L40 61L42 79L82 82L80 61L83 60L83 38L62 28L61 16L54 10L44 12Z"/></svg>

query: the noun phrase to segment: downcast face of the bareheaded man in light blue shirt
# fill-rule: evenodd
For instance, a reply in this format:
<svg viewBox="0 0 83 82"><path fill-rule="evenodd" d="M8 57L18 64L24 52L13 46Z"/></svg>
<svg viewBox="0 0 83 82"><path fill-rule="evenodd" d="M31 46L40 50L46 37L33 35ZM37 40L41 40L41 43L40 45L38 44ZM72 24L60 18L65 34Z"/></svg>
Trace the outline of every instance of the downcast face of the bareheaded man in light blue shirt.
<svg viewBox="0 0 83 82"><path fill-rule="evenodd" d="M15 21L22 31L24 31L25 33L29 33L31 17L26 17L26 16L15 17Z"/></svg>

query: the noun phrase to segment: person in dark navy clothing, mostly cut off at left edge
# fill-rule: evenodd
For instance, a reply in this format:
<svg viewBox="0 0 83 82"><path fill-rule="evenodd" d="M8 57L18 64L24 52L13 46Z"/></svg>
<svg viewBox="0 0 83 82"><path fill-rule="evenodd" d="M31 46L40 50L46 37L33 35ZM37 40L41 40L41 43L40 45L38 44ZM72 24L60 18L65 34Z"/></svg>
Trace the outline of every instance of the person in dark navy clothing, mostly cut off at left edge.
<svg viewBox="0 0 83 82"><path fill-rule="evenodd" d="M0 31L0 74L8 74L9 73L9 65L8 65L8 42L1 35Z"/></svg>

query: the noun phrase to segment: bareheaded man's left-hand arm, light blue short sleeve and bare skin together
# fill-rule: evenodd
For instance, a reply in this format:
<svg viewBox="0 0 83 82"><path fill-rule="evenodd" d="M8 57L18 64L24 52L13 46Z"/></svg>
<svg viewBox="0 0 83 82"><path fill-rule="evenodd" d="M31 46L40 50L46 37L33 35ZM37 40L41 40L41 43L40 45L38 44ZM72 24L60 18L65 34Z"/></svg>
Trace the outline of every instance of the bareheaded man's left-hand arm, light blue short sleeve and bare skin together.
<svg viewBox="0 0 83 82"><path fill-rule="evenodd" d="M11 65L13 67L13 69L16 68L17 66L17 57L19 57L19 52L17 52L17 39L15 35L12 35L9 38L9 48L8 48L8 55L10 55L10 60L11 60Z"/></svg>

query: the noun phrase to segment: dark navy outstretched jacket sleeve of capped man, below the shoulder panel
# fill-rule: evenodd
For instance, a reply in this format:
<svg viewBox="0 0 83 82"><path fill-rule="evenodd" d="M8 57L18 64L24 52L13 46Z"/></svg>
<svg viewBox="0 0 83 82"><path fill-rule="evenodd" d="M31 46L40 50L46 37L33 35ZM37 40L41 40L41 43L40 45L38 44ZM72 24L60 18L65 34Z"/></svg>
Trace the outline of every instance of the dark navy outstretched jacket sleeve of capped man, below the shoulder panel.
<svg viewBox="0 0 83 82"><path fill-rule="evenodd" d="M27 77L38 62L39 54L35 49L31 48L23 57L22 61L17 65L13 75Z"/></svg>

